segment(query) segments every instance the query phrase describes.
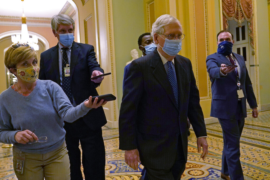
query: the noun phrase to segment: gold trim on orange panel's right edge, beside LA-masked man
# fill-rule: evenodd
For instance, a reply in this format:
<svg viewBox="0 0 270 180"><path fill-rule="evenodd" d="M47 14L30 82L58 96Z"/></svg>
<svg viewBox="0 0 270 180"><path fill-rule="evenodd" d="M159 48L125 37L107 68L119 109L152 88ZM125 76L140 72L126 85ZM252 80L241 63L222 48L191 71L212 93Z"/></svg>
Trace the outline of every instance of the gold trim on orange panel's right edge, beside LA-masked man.
<svg viewBox="0 0 270 180"><path fill-rule="evenodd" d="M209 32L208 32L208 8L207 8L207 0L204 0L204 28L205 28L205 49L206 49L206 57L210 54L209 53ZM206 76L207 78L207 96L200 97L200 100L210 100L211 99L211 81L210 77Z"/></svg>

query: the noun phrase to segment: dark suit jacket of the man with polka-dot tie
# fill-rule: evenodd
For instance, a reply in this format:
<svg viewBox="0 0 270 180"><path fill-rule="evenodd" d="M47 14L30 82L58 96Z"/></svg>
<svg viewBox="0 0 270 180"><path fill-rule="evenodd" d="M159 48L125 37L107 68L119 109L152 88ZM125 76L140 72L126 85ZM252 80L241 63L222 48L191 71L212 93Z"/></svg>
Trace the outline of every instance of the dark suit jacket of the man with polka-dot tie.
<svg viewBox="0 0 270 180"><path fill-rule="evenodd" d="M60 85L58 44L40 55L39 79L52 80ZM104 73L96 61L94 47L73 41L70 57L70 85L76 104L85 101L89 96L98 96L98 84L90 80L92 72ZM102 107L90 110L83 120L91 130L96 130L107 123Z"/></svg>

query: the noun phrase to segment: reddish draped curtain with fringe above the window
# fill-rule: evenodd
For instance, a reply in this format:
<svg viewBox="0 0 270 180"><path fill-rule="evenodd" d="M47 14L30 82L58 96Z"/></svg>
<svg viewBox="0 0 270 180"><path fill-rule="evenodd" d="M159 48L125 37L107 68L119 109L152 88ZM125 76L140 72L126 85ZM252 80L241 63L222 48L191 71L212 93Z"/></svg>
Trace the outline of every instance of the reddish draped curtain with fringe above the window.
<svg viewBox="0 0 270 180"><path fill-rule="evenodd" d="M252 0L222 0L223 28L228 29L228 20L234 19L239 27L248 21L250 45L254 49Z"/></svg>

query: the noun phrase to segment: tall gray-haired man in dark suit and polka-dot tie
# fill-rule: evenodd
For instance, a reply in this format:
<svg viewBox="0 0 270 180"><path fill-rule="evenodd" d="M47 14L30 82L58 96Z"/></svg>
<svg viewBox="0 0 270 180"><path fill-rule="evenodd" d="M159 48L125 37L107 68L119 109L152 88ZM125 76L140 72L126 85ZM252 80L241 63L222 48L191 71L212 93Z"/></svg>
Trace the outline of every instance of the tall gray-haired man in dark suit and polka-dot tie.
<svg viewBox="0 0 270 180"><path fill-rule="evenodd" d="M55 15L51 21L52 32L59 43L41 53L39 79L58 83L73 106L89 96L98 96L96 87L102 78L90 80L103 74L96 61L94 47L74 42L74 20L65 14ZM70 74L65 74L69 70ZM101 127L107 123L102 107L90 110L74 123L65 122L66 145L70 160L72 180L82 180L82 164L85 179L105 179L105 148Z"/></svg>

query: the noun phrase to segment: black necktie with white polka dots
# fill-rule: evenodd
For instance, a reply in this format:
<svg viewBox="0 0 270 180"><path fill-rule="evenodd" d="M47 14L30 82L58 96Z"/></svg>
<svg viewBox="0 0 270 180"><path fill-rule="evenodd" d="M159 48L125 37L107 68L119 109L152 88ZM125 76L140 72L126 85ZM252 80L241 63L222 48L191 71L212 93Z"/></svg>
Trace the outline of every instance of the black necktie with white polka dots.
<svg viewBox="0 0 270 180"><path fill-rule="evenodd" d="M62 55L62 89L68 96L68 99L70 100L70 103L73 103L72 99L72 93L70 88L70 76L65 77L65 67L68 64L68 54L66 50L68 50L68 47L62 47L63 55Z"/></svg>

